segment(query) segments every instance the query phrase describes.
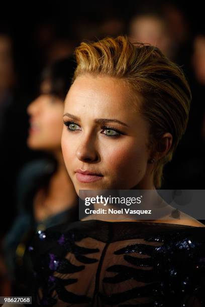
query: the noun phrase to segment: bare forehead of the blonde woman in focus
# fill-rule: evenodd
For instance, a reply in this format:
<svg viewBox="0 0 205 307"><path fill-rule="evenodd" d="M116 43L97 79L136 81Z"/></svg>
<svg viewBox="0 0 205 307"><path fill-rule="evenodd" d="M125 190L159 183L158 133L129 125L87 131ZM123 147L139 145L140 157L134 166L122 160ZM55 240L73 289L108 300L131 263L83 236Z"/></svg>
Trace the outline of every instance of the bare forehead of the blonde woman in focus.
<svg viewBox="0 0 205 307"><path fill-rule="evenodd" d="M77 77L72 84L65 100L65 108L90 106L95 110L112 109L115 113L130 113L137 110L137 100L136 95L134 97L131 89L121 79L83 75Z"/></svg>

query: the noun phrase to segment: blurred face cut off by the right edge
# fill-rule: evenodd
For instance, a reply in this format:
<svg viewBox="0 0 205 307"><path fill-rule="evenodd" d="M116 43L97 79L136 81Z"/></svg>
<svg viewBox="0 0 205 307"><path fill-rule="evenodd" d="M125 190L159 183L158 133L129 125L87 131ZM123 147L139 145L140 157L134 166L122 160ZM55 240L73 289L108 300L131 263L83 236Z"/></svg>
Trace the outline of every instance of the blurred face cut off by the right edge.
<svg viewBox="0 0 205 307"><path fill-rule="evenodd" d="M193 69L197 81L205 85L205 36L197 36L193 45Z"/></svg>

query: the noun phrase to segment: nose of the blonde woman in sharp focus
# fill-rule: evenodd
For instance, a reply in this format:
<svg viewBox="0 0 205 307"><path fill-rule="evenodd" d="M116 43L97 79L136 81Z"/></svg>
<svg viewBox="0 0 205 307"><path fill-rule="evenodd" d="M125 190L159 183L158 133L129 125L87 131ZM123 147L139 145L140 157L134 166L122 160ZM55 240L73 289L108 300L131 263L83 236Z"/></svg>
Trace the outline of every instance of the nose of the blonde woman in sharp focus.
<svg viewBox="0 0 205 307"><path fill-rule="evenodd" d="M93 137L87 136L82 140L77 148L76 156L78 160L82 162L97 162L99 161L99 155L96 150L95 140Z"/></svg>

